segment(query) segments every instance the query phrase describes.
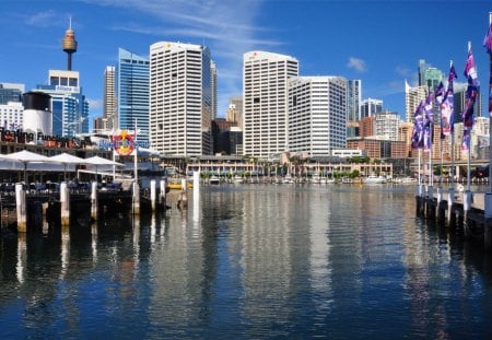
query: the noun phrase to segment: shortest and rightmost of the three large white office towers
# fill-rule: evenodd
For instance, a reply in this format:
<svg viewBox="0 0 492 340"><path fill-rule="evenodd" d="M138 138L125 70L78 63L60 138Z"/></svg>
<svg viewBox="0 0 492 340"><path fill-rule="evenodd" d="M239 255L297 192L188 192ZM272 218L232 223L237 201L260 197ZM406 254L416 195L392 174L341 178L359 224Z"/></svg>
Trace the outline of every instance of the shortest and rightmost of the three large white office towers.
<svg viewBox="0 0 492 340"><path fill-rule="evenodd" d="M341 77L289 80L289 151L329 156L347 146L348 82Z"/></svg>

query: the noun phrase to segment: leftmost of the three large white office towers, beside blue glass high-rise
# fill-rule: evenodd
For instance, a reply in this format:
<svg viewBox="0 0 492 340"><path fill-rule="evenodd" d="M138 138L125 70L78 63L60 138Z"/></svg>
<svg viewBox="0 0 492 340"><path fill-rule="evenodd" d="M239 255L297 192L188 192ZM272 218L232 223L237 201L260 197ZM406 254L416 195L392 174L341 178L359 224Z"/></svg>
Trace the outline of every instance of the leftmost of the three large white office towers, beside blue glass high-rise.
<svg viewBox="0 0 492 340"><path fill-rule="evenodd" d="M212 77L208 47L160 42L150 47L150 140L168 155L212 153Z"/></svg>

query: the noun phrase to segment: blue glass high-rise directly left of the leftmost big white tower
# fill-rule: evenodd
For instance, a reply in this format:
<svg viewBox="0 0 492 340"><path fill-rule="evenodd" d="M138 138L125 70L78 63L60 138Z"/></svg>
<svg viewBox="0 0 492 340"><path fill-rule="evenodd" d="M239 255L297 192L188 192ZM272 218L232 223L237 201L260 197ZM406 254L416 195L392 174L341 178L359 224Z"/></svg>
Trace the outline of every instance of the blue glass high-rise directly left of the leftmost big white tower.
<svg viewBox="0 0 492 340"><path fill-rule="evenodd" d="M132 131L137 128L137 141L149 142L149 59L119 48L116 72L115 128Z"/></svg>

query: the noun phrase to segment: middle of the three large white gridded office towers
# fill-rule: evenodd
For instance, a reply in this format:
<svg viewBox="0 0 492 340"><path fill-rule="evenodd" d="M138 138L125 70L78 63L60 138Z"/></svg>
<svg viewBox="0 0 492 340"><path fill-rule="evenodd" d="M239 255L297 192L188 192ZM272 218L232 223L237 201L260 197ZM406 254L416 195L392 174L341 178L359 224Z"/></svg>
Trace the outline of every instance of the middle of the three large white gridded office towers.
<svg viewBox="0 0 492 340"><path fill-rule="evenodd" d="M249 51L243 56L243 153L269 159L288 150L288 80L297 59Z"/></svg>

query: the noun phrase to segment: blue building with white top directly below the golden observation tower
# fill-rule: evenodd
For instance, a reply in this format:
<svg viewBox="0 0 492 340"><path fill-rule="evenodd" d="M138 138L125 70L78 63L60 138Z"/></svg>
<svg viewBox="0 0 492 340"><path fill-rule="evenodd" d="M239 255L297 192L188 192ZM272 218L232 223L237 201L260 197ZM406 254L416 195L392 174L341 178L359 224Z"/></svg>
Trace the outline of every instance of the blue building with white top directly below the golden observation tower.
<svg viewBox="0 0 492 340"><path fill-rule="evenodd" d="M74 137L89 132L89 102L82 93L78 71L49 70L48 85L37 91L51 96L52 134Z"/></svg>

